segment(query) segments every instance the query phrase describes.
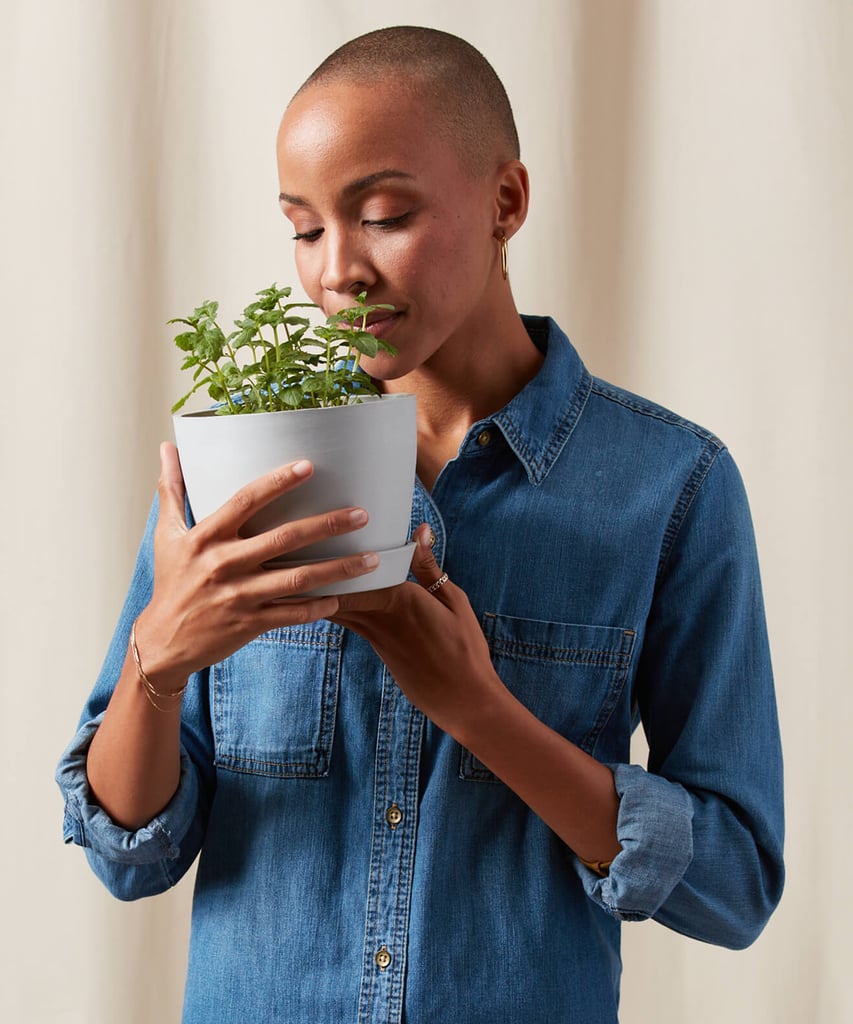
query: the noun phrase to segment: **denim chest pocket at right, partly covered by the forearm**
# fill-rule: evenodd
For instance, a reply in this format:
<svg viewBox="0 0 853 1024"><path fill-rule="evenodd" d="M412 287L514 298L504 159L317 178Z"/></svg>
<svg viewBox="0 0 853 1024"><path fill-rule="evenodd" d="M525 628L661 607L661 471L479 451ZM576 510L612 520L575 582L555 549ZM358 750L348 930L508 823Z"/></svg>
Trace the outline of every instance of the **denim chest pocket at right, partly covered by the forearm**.
<svg viewBox="0 0 853 1024"><path fill-rule="evenodd" d="M537 718L593 754L625 688L634 631L491 613L481 625L507 688ZM460 777L499 781L464 749Z"/></svg>

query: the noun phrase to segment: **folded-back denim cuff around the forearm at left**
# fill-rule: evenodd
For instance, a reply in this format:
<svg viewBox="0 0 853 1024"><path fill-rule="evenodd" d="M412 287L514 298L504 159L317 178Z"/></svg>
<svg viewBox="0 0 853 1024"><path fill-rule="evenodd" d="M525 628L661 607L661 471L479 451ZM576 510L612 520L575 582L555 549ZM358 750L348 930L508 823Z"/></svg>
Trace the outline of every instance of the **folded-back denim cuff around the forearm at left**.
<svg viewBox="0 0 853 1024"><path fill-rule="evenodd" d="M56 781L66 798L63 839L105 860L122 864L151 864L174 860L189 830L199 801L199 783L189 758L181 751L180 782L169 804L156 817L128 831L92 799L86 775L86 757L100 720L80 727L56 769Z"/></svg>

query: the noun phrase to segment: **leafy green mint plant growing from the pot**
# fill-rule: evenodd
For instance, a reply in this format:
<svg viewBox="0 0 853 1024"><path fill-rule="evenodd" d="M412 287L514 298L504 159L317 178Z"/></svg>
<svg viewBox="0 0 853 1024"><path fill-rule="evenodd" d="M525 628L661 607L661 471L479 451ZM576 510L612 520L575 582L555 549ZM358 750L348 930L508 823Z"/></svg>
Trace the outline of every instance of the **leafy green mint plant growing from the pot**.
<svg viewBox="0 0 853 1024"><path fill-rule="evenodd" d="M317 306L288 302L290 288L271 285L256 294L228 335L216 322L218 302L204 302L188 316L169 321L189 328L176 335L175 344L186 353L181 370L194 371L194 385L173 413L204 387L219 403L218 415L346 406L379 394L359 361L380 349L396 355L392 345L367 330L371 313L393 306L368 305L361 292L355 305L313 327L298 310Z"/></svg>

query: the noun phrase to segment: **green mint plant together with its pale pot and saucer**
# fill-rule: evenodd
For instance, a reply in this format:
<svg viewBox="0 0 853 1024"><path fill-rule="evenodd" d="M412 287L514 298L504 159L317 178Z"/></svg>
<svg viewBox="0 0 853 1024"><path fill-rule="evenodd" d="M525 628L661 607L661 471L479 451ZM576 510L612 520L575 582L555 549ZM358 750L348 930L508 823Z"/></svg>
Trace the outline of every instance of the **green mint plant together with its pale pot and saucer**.
<svg viewBox="0 0 853 1024"><path fill-rule="evenodd" d="M386 305L355 304L312 326L304 314L313 303L291 302L290 288L272 285L234 322L226 335L218 303L208 301L188 316L175 344L181 369L194 385L172 409L175 440L194 518L219 508L241 486L297 459L313 463L312 476L254 515L251 536L293 519L359 506L367 526L301 549L275 566L376 551L373 572L312 594L351 593L401 583L414 545L409 543L415 482L415 396L382 395L360 367L362 355L396 354L369 330L370 316ZM213 409L181 413L207 388Z"/></svg>

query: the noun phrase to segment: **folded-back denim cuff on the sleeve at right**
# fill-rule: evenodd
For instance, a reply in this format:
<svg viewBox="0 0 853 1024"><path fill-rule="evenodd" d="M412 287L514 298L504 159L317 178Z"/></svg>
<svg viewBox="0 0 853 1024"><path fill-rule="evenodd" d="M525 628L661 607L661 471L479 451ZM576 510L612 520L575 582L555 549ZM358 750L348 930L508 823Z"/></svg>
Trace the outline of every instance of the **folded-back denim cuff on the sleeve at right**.
<svg viewBox="0 0 853 1024"><path fill-rule="evenodd" d="M693 805L677 782L639 765L609 765L620 797L622 850L601 878L575 857L587 895L620 921L651 918L693 859Z"/></svg>

